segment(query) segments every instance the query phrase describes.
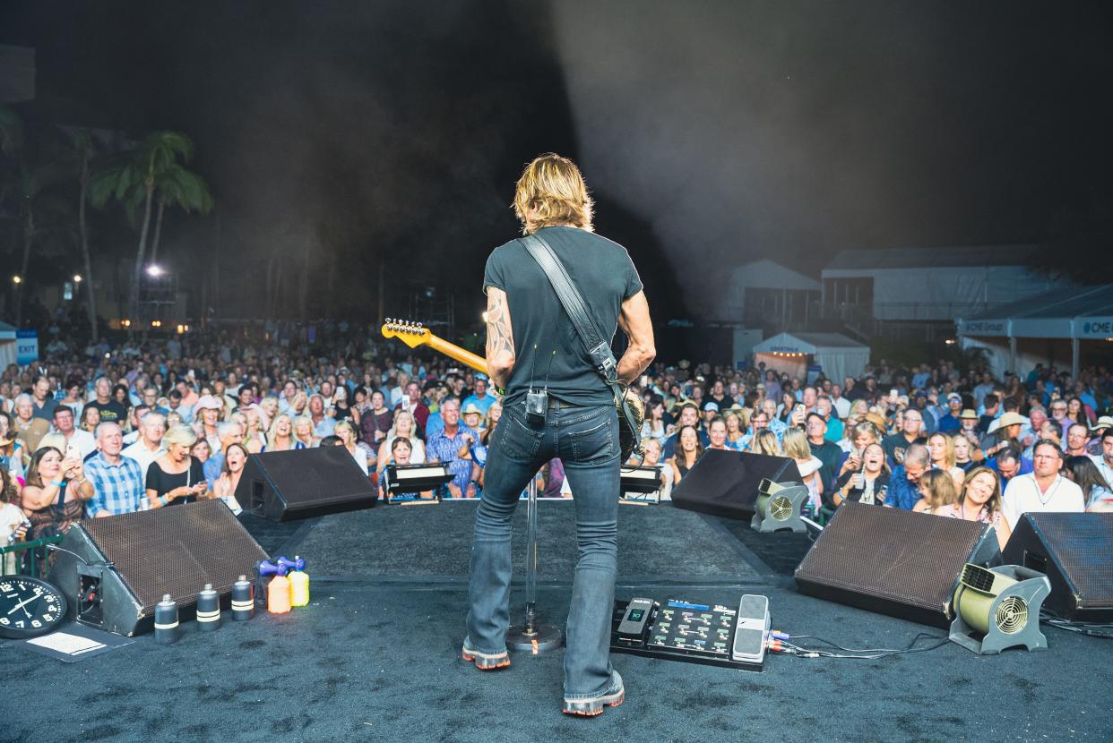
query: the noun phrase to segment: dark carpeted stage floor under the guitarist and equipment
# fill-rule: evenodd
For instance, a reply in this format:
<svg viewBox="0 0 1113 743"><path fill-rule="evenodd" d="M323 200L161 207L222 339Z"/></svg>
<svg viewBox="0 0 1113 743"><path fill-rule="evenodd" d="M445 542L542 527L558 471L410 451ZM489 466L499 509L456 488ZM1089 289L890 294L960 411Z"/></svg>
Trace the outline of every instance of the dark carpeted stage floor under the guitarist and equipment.
<svg viewBox="0 0 1113 743"><path fill-rule="evenodd" d="M0 741L1113 740L1113 643L1051 628L1042 653L983 657L948 643L878 661L772 656L760 674L615 654L627 702L567 717L562 651L514 655L496 673L460 660L473 509L378 507L259 531L273 553L309 561L313 601L289 615L211 634L188 623L176 645L145 635L73 664L4 642ZM540 506L539 606L559 624L571 509ZM666 504L619 517L620 597L762 593L776 628L848 646L943 634L796 593L785 565L807 548L797 535L748 534Z"/></svg>

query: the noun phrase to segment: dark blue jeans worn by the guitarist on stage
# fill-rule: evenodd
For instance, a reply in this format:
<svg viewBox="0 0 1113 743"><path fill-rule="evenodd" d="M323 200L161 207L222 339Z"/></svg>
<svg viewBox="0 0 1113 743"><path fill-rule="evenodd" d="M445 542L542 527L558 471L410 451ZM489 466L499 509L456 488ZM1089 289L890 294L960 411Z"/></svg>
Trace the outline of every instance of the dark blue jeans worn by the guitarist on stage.
<svg viewBox="0 0 1113 743"><path fill-rule="evenodd" d="M564 695L599 696L611 684L610 638L618 572L619 428L613 405L553 403L531 422L524 402L508 406L492 435L483 498L475 512L467 642L506 650L510 533L519 496L549 459L560 457L575 504L579 561L564 653Z"/></svg>

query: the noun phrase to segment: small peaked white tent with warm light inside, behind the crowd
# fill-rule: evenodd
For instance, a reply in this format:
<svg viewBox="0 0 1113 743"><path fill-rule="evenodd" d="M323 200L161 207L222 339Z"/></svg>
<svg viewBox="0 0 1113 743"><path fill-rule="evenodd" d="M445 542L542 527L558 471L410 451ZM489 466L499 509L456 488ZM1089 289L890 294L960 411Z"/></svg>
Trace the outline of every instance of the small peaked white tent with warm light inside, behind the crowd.
<svg viewBox="0 0 1113 743"><path fill-rule="evenodd" d="M808 365L819 366L828 379L859 377L869 363L869 346L838 333L781 333L754 347L754 364L787 371L801 379Z"/></svg>

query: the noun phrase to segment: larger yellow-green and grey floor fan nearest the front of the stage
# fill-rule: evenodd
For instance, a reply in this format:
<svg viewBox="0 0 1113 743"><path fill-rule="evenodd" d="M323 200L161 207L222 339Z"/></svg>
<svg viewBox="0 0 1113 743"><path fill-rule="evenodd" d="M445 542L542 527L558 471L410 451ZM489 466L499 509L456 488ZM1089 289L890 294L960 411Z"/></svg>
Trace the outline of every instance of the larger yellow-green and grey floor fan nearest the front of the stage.
<svg viewBox="0 0 1113 743"><path fill-rule="evenodd" d="M978 655L1008 647L1046 650L1040 607L1051 593L1042 573L1020 565L985 568L967 563L955 590L951 640Z"/></svg>

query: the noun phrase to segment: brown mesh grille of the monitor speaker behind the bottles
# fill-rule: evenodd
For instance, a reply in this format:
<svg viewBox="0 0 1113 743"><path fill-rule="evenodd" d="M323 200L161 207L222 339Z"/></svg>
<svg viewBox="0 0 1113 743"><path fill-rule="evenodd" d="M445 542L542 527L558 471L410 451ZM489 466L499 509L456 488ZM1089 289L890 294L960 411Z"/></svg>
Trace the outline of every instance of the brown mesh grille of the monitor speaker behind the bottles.
<svg viewBox="0 0 1113 743"><path fill-rule="evenodd" d="M144 617L166 593L179 606L194 605L206 583L228 593L267 558L220 501L89 518L81 526L136 595Z"/></svg>

